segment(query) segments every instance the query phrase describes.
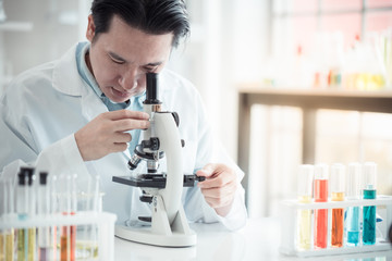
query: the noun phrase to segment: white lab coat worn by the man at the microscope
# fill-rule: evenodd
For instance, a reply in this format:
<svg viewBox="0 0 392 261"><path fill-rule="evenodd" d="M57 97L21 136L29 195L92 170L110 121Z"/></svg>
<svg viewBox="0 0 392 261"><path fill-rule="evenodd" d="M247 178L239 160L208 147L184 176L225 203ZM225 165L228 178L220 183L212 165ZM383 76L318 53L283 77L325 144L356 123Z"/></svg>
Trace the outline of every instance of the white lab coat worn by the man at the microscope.
<svg viewBox="0 0 392 261"><path fill-rule="evenodd" d="M15 166L22 160L51 175L76 173L82 190L87 177L99 175L105 192L103 211L115 213L118 222L150 215L148 204L138 199L139 188L112 182L112 176L130 174L128 151L90 162L84 162L79 154L74 133L108 109L79 76L75 49L58 61L26 71L5 89L0 100L0 170L3 176L15 175ZM207 204L197 187L184 188L182 200L187 219L222 222L229 229L242 227L246 221L244 189L240 184L243 173L212 138L199 94L187 80L164 70L160 74L159 99L163 110L180 115L180 135L185 140L184 173L221 162L238 175L240 189L224 219Z"/></svg>

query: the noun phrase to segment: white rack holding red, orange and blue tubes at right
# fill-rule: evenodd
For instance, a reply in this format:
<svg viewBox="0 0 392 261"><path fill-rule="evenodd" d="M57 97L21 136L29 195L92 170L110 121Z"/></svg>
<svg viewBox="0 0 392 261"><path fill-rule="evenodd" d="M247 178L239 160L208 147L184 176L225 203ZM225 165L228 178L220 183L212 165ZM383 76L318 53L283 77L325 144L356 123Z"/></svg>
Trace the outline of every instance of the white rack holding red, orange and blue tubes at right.
<svg viewBox="0 0 392 261"><path fill-rule="evenodd" d="M376 238L375 245L346 246L335 248L330 246L330 235L328 236L329 246L322 249L299 249L297 247L297 213L301 210L313 210L311 235L314 235L314 211L316 209L328 209L331 213L332 209L346 209L348 207L367 207L376 206L377 213L383 211L384 216L381 222L383 225L377 224L377 229L381 231L381 237ZM362 212L362 211L360 211ZM351 254L359 252L375 252L392 250L391 243L388 240L388 227L392 223L392 196L377 196L372 200L346 200L346 201L328 201L328 202L311 202L299 203L297 200L284 200L280 203L280 217L281 217L281 244L279 251L286 256L296 256L298 258L307 257L321 257L332 254ZM328 231L330 234L331 222L328 222ZM313 239L311 239L313 240ZM313 245L313 244L311 244Z"/></svg>

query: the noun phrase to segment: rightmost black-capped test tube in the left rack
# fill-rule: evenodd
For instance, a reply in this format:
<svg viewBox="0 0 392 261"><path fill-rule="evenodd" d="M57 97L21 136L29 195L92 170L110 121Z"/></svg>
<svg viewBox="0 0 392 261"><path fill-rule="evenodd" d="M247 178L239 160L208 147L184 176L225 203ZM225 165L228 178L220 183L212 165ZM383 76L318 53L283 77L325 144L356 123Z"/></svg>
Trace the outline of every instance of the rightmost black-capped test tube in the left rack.
<svg viewBox="0 0 392 261"><path fill-rule="evenodd" d="M50 214L50 196L47 186L47 172L39 173L38 185L38 214L45 219ZM50 260L50 227L38 228L38 257L39 261Z"/></svg>

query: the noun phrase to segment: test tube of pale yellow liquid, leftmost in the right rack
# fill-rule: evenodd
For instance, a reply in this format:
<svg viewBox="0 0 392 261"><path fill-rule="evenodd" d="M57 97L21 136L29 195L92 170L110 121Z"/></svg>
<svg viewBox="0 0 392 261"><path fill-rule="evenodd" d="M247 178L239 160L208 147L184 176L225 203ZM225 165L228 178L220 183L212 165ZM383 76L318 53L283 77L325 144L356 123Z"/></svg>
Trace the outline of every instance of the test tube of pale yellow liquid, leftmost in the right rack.
<svg viewBox="0 0 392 261"><path fill-rule="evenodd" d="M314 166L304 164L298 173L298 202L310 203L313 192ZM310 249L311 245L311 209L298 210L297 247L303 250Z"/></svg>

